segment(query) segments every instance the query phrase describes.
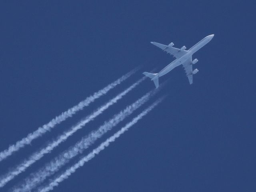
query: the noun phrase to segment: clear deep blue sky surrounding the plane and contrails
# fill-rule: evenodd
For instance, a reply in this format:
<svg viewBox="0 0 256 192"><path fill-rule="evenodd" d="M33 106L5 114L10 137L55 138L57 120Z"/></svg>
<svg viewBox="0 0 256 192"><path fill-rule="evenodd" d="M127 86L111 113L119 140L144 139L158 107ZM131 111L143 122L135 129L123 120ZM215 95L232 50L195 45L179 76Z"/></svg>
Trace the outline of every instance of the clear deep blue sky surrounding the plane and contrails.
<svg viewBox="0 0 256 192"><path fill-rule="evenodd" d="M167 99L54 191L256 190L253 1L1 1L0 18L1 151L143 66L107 96L1 162L1 173L124 90L141 72L155 67L158 72L173 60L150 41L190 48L215 34L193 56L199 73L191 86L182 67L160 78L169 82L161 92ZM145 81L1 190L152 88Z"/></svg>

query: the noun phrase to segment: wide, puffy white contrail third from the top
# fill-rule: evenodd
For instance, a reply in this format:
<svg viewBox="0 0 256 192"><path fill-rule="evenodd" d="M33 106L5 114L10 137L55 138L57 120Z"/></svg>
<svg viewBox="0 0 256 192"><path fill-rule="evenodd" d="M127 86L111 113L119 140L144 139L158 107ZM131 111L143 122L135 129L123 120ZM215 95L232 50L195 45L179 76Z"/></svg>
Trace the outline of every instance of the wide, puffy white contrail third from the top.
<svg viewBox="0 0 256 192"><path fill-rule="evenodd" d="M134 110L138 109L145 102L147 102L151 96L156 94L158 90L152 90L142 96L140 99L136 100L133 104L127 106L124 110L114 115L112 119L105 122L98 130L90 132L86 137L82 138L79 142L77 142L72 148L62 152L58 157L54 158L54 160L50 161L43 168L38 170L36 173L31 174L28 178L25 179L24 184L21 184L20 187L15 187L13 191L30 191L32 188L43 182L48 176L56 173L62 166L69 162L74 156L82 153L83 150L88 148L91 144L93 144L98 138L100 138L104 133L108 130L111 130L114 126L120 123L124 118L128 115L132 114Z"/></svg>

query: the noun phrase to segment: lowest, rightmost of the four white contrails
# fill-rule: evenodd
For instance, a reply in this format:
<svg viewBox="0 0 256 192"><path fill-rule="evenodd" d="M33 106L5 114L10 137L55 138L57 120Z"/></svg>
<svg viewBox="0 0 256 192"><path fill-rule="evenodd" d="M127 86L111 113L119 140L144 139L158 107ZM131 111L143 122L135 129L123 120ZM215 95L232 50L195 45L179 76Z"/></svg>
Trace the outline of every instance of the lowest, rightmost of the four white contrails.
<svg viewBox="0 0 256 192"><path fill-rule="evenodd" d="M100 151L104 150L111 142L114 142L116 138L120 137L121 134L126 132L132 125L136 124L138 120L140 120L143 116L148 114L155 106L157 106L160 102L162 102L164 98L158 99L156 102L154 102L150 107L148 107L146 110L144 110L142 113L140 113L138 116L136 116L131 122L126 124L121 130L116 132L113 136L108 138L105 142L100 144L97 148L95 148L92 152L90 152L88 155L81 158L76 164L68 168L64 173L57 176L50 184L44 188L38 189L38 192L48 192L50 190L53 190L55 186L58 186L58 184L65 179L67 179L72 173L74 173L78 168L82 167L85 162L88 162L92 158L94 158L97 154L100 153Z"/></svg>

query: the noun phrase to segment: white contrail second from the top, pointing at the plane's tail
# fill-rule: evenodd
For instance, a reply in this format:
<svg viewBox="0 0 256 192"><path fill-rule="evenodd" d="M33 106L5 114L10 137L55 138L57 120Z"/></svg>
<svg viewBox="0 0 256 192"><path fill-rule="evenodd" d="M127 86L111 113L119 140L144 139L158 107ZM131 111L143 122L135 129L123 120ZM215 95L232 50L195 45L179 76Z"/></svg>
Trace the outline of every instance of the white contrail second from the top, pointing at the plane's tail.
<svg viewBox="0 0 256 192"><path fill-rule="evenodd" d="M108 101L106 104L100 106L96 111L94 111L92 114L86 116L84 119L80 120L75 126L73 126L70 130L64 132L58 138L54 141L52 141L48 146L45 148L42 148L40 151L35 152L32 154L28 159L24 160L21 164L16 166L12 171L9 171L7 174L1 176L0 179L0 188L3 187L7 182L12 180L15 176L18 174L24 172L29 166L31 166L34 162L37 160L40 160L45 154L51 152L54 148L56 148L60 143L64 142L68 137L72 136L77 130L81 129L83 126L85 126L88 122L94 120L98 115L102 114L106 109L108 109L111 105L116 103L118 100L120 100L123 96L125 96L128 92L136 88L143 80L146 78L140 78L137 82L132 84L130 87L128 87L126 90L118 94L116 97L112 98L110 101Z"/></svg>

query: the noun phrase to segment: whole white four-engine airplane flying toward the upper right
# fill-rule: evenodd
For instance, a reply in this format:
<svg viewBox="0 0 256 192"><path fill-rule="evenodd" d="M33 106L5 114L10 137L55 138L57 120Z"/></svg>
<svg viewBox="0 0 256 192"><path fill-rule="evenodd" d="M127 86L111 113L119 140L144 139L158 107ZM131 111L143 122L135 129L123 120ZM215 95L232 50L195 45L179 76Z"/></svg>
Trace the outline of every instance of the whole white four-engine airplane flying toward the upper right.
<svg viewBox="0 0 256 192"><path fill-rule="evenodd" d="M158 78L165 75L166 73L173 70L175 67L183 65L183 68L186 72L186 76L188 77L188 81L190 84L193 83L193 75L198 72L198 69L192 70L192 65L198 62L198 59L192 60L192 54L198 51L200 48L205 46L210 40L212 40L214 34L208 35L203 38L200 42L192 46L189 50L186 50L186 47L183 46L182 48L174 48L174 43L170 43L168 45L163 45L157 42L151 42L153 45L158 46L162 50L166 51L167 53L173 55L176 59L168 64L165 68L163 68L159 73L148 73L144 72L143 74L154 82L156 88L158 88Z"/></svg>

